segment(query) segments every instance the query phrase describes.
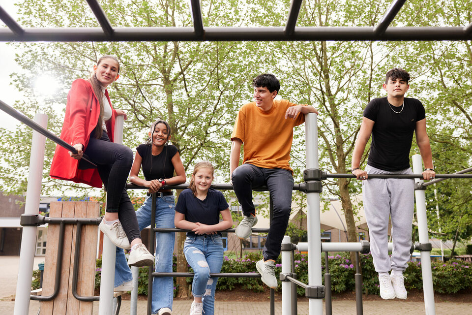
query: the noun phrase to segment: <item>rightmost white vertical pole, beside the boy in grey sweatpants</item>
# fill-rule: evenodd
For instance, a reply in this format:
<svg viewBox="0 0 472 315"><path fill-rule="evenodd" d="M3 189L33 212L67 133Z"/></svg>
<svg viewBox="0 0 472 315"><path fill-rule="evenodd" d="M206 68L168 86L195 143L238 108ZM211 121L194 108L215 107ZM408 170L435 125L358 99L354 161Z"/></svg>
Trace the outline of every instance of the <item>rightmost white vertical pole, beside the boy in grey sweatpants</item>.
<svg viewBox="0 0 472 315"><path fill-rule="evenodd" d="M423 172L423 164L421 156L415 154L413 156L413 173L421 174ZM423 182L421 179L415 179L416 183ZM428 243L428 220L426 218L426 199L424 190L418 189L414 191L416 200L416 217L418 219L418 236L420 243ZM421 252L421 273L423 275L423 294L424 309L426 315L435 315L434 291L433 291L433 274L431 271L431 252Z"/></svg>

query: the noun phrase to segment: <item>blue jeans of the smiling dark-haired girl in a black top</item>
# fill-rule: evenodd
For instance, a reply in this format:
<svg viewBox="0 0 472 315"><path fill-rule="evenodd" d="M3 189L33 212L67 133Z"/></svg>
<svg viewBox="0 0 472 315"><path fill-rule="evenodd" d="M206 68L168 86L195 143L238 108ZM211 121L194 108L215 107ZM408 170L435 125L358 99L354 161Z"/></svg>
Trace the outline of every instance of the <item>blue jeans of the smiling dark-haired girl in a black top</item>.
<svg viewBox="0 0 472 315"><path fill-rule="evenodd" d="M149 196L144 204L136 211L139 229L143 230L151 224L152 197ZM156 198L156 227L175 227L174 196ZM156 232L156 272L172 272L172 257L174 252L175 233ZM126 262L124 251L117 248L115 264L115 286L133 280L131 270ZM152 280L152 314L161 308L172 310L174 298L174 278L155 277Z"/></svg>

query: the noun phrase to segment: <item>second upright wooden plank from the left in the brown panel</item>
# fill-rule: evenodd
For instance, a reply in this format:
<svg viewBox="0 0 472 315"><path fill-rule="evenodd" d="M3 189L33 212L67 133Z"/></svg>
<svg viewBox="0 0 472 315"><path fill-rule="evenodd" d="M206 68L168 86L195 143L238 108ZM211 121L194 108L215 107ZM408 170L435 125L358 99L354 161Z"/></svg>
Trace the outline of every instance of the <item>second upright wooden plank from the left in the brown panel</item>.
<svg viewBox="0 0 472 315"><path fill-rule="evenodd" d="M74 218L75 202L63 201L62 218ZM72 232L73 226L66 224L64 230L64 246L62 248L62 270L60 273L60 289L59 294L54 301L54 315L67 314L67 291L69 288L69 271L70 258L72 249Z"/></svg>

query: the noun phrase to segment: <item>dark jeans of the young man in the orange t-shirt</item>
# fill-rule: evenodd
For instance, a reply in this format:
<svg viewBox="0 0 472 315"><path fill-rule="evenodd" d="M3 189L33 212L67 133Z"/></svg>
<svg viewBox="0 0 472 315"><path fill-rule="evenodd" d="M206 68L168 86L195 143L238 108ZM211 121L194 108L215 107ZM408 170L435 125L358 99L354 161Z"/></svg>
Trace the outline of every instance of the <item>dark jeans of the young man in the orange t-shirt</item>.
<svg viewBox="0 0 472 315"><path fill-rule="evenodd" d="M236 167L232 174L232 182L237 201L241 204L242 213L245 216L256 214L252 202L252 189L264 185L269 189L274 214L262 253L266 260L276 260L280 254L282 239L292 211L292 190L294 189L292 172L282 168L262 168L246 163Z"/></svg>

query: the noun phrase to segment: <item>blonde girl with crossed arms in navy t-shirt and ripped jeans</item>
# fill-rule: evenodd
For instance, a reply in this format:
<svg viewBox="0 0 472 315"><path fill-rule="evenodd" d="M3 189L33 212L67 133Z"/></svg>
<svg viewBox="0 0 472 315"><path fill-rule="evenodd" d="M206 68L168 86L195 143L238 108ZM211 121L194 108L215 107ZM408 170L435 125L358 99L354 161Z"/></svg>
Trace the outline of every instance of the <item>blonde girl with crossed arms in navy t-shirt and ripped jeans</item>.
<svg viewBox="0 0 472 315"><path fill-rule="evenodd" d="M190 315L201 315L202 310L205 315L214 314L218 278L210 278L210 273L219 273L223 265L223 243L219 231L233 226L225 197L221 191L210 188L213 172L210 162L197 163L190 188L180 193L176 205L176 227L191 230L183 246L185 258L195 272Z"/></svg>

